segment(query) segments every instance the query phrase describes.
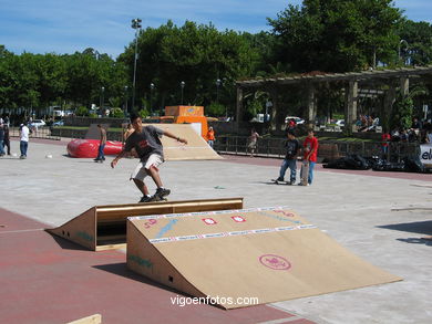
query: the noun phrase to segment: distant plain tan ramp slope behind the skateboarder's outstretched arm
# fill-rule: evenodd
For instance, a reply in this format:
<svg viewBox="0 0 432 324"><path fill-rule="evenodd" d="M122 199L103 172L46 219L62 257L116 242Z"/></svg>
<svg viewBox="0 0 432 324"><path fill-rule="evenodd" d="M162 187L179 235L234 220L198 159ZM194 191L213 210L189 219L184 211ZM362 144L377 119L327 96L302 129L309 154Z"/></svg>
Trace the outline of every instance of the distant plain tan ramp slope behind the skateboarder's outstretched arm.
<svg viewBox="0 0 432 324"><path fill-rule="evenodd" d="M162 136L166 160L222 159L222 157L199 136L189 124L144 124L168 130L187 139L187 145Z"/></svg>

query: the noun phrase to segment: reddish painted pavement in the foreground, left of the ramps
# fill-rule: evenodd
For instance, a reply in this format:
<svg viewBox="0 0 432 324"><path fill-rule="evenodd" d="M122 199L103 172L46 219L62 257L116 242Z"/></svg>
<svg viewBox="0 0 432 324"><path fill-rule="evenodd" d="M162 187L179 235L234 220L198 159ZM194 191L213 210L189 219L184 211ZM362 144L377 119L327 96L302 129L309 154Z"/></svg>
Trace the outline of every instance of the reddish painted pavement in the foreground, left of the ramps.
<svg viewBox="0 0 432 324"><path fill-rule="evenodd" d="M183 295L128 271L124 253L83 250L44 227L0 208L0 323L60 324L96 313L103 324L312 323L267 305L173 305Z"/></svg>

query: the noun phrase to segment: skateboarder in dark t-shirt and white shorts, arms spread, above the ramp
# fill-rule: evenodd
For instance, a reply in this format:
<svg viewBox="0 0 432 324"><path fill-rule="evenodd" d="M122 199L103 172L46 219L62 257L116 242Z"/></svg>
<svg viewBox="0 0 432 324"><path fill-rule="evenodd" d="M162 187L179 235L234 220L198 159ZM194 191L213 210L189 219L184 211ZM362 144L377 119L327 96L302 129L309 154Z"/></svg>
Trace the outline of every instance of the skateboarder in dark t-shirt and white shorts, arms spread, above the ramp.
<svg viewBox="0 0 432 324"><path fill-rule="evenodd" d="M131 179L134 180L136 187L143 194L140 202L162 200L169 195L171 190L163 187L160 177L158 166L164 161L163 146L160 137L165 135L184 144L187 144L187 140L153 125L144 127L141 117L136 115L131 117L131 123L135 132L127 137L123 150L112 160L111 167L114 168L122 157L135 148L140 157L140 164L132 173ZM151 176L157 186L156 194L153 196L150 195L148 188L144 184L146 176Z"/></svg>

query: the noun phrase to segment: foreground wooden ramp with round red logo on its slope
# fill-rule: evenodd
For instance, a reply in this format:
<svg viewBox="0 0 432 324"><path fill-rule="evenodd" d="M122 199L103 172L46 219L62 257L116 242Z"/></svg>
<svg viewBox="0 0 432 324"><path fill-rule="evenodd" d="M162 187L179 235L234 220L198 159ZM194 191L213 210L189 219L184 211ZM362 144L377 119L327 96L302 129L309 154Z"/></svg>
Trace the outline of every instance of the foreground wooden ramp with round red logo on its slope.
<svg viewBox="0 0 432 324"><path fill-rule="evenodd" d="M225 309L401 280L284 207L131 217L126 253L131 270Z"/></svg>

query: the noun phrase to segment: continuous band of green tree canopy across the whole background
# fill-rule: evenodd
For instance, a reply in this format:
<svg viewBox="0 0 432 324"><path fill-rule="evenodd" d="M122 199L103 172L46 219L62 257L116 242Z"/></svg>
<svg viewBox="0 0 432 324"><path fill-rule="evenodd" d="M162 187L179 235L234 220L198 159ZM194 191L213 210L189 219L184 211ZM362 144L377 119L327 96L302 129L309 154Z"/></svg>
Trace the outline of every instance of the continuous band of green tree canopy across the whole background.
<svg viewBox="0 0 432 324"><path fill-rule="evenodd" d="M236 80L432 61L431 24L408 20L391 0L304 0L268 23L269 32L256 34L193 21L140 30L134 108L157 114L194 104L208 115L232 115ZM116 60L91 48L17 55L0 45L0 108L90 107L102 97L113 107L128 101L131 108L134 60L135 39ZM249 95L246 108L260 113L267 100Z"/></svg>

